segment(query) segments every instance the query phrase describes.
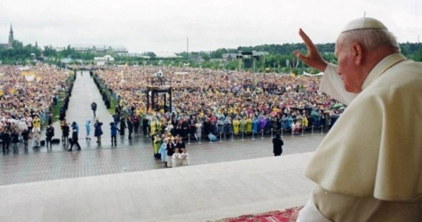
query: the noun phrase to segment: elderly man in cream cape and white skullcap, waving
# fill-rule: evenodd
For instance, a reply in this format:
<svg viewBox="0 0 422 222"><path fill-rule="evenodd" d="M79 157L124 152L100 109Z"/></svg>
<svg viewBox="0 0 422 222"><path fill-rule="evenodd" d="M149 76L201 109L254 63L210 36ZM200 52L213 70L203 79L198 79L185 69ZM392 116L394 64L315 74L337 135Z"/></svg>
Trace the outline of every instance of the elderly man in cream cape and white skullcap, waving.
<svg viewBox="0 0 422 222"><path fill-rule="evenodd" d="M298 221L421 221L422 63L373 18L343 29L338 66L299 35L308 53L295 56L323 71L320 89L348 107L305 168L317 187Z"/></svg>

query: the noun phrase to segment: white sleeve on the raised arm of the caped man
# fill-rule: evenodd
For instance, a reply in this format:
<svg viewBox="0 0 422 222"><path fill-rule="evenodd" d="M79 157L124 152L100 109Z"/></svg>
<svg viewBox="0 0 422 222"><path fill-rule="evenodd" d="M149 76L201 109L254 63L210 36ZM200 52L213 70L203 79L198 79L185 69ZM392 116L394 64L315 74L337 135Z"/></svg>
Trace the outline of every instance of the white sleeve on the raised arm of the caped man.
<svg viewBox="0 0 422 222"><path fill-rule="evenodd" d="M356 93L348 92L344 89L343 80L340 75L337 74L337 66L332 63L328 63L324 70L324 75L319 83L319 90L345 105L349 105L357 95Z"/></svg>

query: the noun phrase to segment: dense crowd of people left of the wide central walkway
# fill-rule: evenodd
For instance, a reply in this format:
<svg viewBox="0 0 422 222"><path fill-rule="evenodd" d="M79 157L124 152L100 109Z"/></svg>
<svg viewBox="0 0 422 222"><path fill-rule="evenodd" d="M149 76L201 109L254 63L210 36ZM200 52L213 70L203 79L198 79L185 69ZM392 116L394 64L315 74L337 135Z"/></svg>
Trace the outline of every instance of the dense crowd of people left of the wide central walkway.
<svg viewBox="0 0 422 222"><path fill-rule="evenodd" d="M31 67L0 66L0 131L3 152L18 152L18 141L28 147L39 146L41 128L53 122L52 107L60 94L71 89L72 81L67 81L69 70L48 64ZM49 133L49 131L47 131ZM47 135L48 137L49 135Z"/></svg>

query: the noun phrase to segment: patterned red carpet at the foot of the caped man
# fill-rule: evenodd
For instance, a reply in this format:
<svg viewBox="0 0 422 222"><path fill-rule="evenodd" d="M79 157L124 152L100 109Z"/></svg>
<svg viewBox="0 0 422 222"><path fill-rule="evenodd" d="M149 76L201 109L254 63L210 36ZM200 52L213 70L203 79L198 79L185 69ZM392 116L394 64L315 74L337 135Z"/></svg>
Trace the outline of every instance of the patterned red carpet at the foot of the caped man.
<svg viewBox="0 0 422 222"><path fill-rule="evenodd" d="M237 218L225 218L215 222L295 222L302 207L294 207L281 211L270 211L255 215L242 215ZM290 219L294 215L294 219Z"/></svg>

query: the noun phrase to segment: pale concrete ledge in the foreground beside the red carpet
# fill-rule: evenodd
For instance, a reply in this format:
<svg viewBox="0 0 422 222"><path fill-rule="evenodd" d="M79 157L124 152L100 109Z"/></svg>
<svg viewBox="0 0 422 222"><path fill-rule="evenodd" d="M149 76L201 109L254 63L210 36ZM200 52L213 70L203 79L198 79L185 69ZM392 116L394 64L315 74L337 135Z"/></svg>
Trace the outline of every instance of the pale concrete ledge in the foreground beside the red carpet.
<svg viewBox="0 0 422 222"><path fill-rule="evenodd" d="M304 205L312 153L0 186L0 221L208 221Z"/></svg>

